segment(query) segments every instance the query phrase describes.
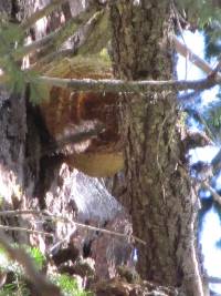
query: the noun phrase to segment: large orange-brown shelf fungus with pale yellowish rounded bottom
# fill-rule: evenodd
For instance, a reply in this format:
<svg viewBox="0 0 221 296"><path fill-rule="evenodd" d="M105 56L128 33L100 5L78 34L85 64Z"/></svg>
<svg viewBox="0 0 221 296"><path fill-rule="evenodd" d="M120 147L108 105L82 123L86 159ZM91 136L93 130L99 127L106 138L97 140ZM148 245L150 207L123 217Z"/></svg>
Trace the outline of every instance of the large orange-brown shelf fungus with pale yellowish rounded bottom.
<svg viewBox="0 0 221 296"><path fill-rule="evenodd" d="M105 76L104 76L105 75ZM84 75L85 76L85 75ZM82 79L80 73L69 72L64 78ZM106 79L109 73L87 73L86 78ZM52 88L50 100L41 104L41 112L50 134L60 141L67 135L88 131L98 123L104 130L98 136L64 149L66 162L72 167L93 176L113 175L123 167L124 159L119 149L116 93L71 92Z"/></svg>

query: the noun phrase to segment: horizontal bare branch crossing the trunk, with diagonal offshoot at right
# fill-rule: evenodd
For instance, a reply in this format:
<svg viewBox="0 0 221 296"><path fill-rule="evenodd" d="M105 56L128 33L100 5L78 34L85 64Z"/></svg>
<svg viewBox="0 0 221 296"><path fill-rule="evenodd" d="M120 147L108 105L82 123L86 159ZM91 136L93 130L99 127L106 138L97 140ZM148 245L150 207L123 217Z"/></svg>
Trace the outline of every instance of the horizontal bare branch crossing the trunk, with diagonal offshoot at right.
<svg viewBox="0 0 221 296"><path fill-rule="evenodd" d="M83 12L84 14L85 12ZM85 16L85 14L84 14ZM78 16L80 17L80 16ZM60 30L59 30L60 31ZM65 31L64 31L65 32ZM54 32L53 34L57 34ZM66 37L66 33L61 33L63 37ZM54 39L54 35L45 37L50 40ZM201 80L193 81L122 81L122 80L92 80L92 79L60 79L60 78L49 78L49 76L39 76L35 78L34 81L29 81L27 78L27 82L34 83L43 83L49 86L60 86L67 88L74 91L93 91L93 92L105 92L109 91L113 93L119 92L141 92L145 93L147 91L164 91L164 90L172 90L172 91L183 91L183 90L196 90L203 91L208 90L217 84L221 83L221 75L217 73L215 75L210 75L213 73L213 69L204 62L202 59L193 54L186 45L183 45L176 37L173 37L173 41L176 44L176 49L182 55L189 54L191 62L202 69L208 76ZM4 83L7 81L7 75L1 75L0 81Z"/></svg>

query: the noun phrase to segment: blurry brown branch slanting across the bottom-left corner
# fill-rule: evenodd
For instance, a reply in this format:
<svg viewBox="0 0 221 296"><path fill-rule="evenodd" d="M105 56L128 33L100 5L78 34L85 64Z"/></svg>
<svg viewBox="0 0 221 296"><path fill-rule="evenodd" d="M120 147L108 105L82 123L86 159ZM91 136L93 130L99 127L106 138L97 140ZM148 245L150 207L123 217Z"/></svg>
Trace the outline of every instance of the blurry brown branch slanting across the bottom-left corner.
<svg viewBox="0 0 221 296"><path fill-rule="evenodd" d="M22 248L12 247L2 232L0 232L0 245L2 245L12 261L17 261L21 264L27 277L33 283L40 295L62 296L59 287L49 283L46 278L36 271L31 258Z"/></svg>

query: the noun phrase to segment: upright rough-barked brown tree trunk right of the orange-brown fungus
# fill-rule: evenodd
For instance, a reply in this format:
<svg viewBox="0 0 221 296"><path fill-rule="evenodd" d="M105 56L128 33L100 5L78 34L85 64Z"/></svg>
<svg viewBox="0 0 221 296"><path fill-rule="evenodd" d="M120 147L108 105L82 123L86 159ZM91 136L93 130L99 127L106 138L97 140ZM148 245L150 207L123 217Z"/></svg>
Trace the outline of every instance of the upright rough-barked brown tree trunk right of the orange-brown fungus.
<svg viewBox="0 0 221 296"><path fill-rule="evenodd" d="M119 2L110 7L115 75L175 78L170 1ZM126 139L128 198L124 203L134 234L146 242L146 247L136 246L138 272L185 295L204 295L194 241L197 198L185 165L176 93L124 95L119 124Z"/></svg>

